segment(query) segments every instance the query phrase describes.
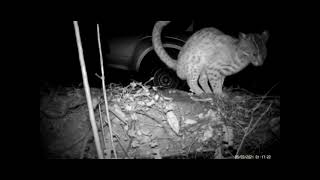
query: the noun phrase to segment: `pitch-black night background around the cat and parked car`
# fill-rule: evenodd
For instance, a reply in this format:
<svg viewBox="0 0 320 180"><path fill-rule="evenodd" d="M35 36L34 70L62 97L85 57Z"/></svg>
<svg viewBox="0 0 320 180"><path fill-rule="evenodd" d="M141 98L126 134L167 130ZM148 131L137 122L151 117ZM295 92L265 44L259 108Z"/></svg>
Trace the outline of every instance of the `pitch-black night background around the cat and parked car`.
<svg viewBox="0 0 320 180"><path fill-rule="evenodd" d="M270 26L268 21L246 21L243 22L237 18L233 21L219 21L212 19L210 21L195 21L195 30L204 27L215 27L225 34L238 37L238 33L261 33L268 30L270 37L267 43L267 58L261 67L249 65L243 71L229 76L225 80L225 86L237 86L245 88L251 92L263 94L273 85L280 82L280 64L276 56L276 32ZM181 32L191 20L172 21L170 31ZM151 35L155 21L134 21L134 20L101 20L101 21L79 21L82 46L84 49L84 58L86 62L89 84L93 87L101 87L101 82L94 75L100 75L99 50L96 34L96 24L100 24L101 37L112 37L113 35L142 33ZM169 28L169 26L168 26ZM52 21L48 27L48 34L43 37L48 45L46 56L40 61L40 84L50 82L55 85L77 86L82 83L82 75L78 57L78 50L75 38L75 32L72 20L70 21ZM103 46L103 42L102 42ZM103 47L104 48L104 47ZM102 49L102 52L106 51ZM107 59L104 59L105 61ZM104 62L106 64L106 62ZM114 69L105 69L108 82L126 83L130 82L133 72L120 71ZM270 93L271 95L280 95L280 83ZM269 95L270 95L269 94Z"/></svg>

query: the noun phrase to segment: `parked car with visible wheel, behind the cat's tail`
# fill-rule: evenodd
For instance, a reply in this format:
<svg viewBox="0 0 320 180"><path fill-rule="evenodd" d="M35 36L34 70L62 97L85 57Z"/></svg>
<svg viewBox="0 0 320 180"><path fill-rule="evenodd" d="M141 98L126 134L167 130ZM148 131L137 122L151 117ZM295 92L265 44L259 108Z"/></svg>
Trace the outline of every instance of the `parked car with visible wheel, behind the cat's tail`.
<svg viewBox="0 0 320 180"><path fill-rule="evenodd" d="M183 25L175 24L163 30L162 43L173 58L177 58L180 49L193 33L193 21ZM144 26L143 31L131 31L121 34L113 31L103 38L103 53L106 65L114 69L136 72L142 81L153 77L153 85L165 88L183 86L176 72L167 66L156 55L152 45L152 28L155 22ZM120 27L127 28L127 27ZM183 29L182 29L183 28ZM129 31L129 30L128 30ZM123 31L121 31L123 32Z"/></svg>

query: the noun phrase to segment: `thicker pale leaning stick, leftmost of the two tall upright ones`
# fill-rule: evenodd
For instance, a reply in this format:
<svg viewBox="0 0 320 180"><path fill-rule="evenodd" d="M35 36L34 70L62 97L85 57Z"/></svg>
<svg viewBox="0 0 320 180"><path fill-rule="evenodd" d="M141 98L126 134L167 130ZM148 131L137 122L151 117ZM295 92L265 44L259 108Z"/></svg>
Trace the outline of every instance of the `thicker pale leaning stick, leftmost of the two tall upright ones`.
<svg viewBox="0 0 320 180"><path fill-rule="evenodd" d="M73 21L73 25L74 25L74 29L75 29L75 33L76 33L79 61L80 61L80 65L81 65L83 85L84 85L84 89L86 92L87 104L88 104L88 109L89 109L89 117L90 117L90 123L91 123L92 131L93 131L94 142L96 145L98 158L103 159L103 153L102 153L102 149L101 149L98 129L97 129L96 121L94 118L93 105L92 105L92 99L91 99L91 94L90 94L90 86L89 86L89 82L88 82L86 64L84 62L84 57L83 57L83 49L82 49L82 44L81 44L78 21Z"/></svg>

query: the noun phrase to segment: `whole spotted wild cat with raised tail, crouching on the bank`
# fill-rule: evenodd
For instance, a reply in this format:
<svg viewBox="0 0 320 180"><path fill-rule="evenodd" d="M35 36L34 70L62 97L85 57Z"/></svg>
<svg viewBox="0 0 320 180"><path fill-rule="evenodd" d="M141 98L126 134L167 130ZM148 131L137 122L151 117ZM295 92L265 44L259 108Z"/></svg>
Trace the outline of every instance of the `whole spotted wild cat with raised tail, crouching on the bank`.
<svg viewBox="0 0 320 180"><path fill-rule="evenodd" d="M162 29L169 23L158 21L154 25L153 48L180 79L187 80L190 90L197 95L213 93L225 97L222 87L226 76L241 71L250 63L261 66L266 58L268 31L261 35L239 33L239 38L234 38L208 27L195 32L182 47L178 59L174 60L161 42Z"/></svg>

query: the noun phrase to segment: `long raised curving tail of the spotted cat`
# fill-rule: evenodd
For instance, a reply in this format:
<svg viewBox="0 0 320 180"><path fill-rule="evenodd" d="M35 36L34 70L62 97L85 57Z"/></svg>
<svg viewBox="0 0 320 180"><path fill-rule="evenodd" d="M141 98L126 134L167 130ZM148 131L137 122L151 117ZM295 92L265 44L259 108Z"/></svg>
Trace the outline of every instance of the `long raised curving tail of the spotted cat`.
<svg viewBox="0 0 320 180"><path fill-rule="evenodd" d="M176 70L177 69L177 61L172 59L166 50L163 48L161 42L161 32L164 26L169 24L170 21L157 21L153 27L152 31L152 44L153 48L156 51L157 55L169 68Z"/></svg>

